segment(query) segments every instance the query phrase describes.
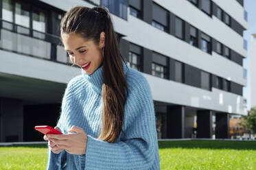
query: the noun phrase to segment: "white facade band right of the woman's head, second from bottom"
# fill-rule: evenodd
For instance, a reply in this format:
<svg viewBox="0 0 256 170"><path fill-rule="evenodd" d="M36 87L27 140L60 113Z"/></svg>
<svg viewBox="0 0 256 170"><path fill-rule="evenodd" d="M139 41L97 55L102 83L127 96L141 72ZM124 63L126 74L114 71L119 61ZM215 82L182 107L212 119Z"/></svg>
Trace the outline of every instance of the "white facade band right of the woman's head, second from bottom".
<svg viewBox="0 0 256 170"><path fill-rule="evenodd" d="M130 24L126 40L142 47L162 53L191 66L196 66L214 75L230 78L231 81L246 85L243 78L243 68L231 60L213 52L213 55L189 45L170 34L162 32L155 27L150 27L148 23L129 16Z"/></svg>

